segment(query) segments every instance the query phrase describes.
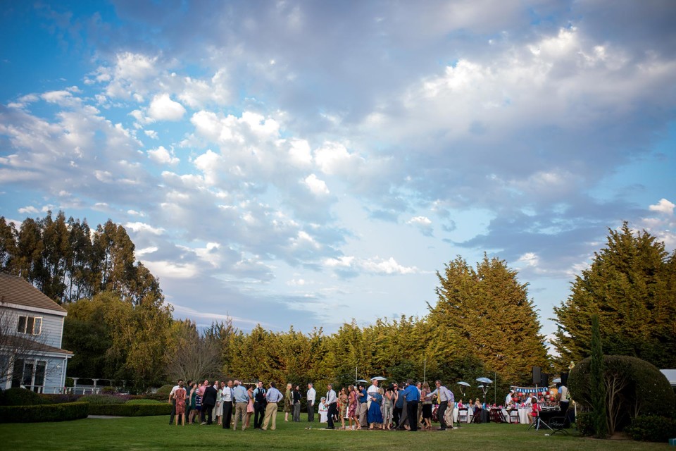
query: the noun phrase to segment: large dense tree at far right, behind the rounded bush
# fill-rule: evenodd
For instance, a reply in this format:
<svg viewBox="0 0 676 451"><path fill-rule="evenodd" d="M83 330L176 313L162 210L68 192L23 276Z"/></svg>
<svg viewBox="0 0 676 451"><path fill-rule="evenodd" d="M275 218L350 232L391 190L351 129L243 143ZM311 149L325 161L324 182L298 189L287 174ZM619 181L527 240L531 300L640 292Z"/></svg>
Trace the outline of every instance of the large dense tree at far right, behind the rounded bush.
<svg viewBox="0 0 676 451"><path fill-rule="evenodd" d="M609 230L606 247L575 278L568 299L555 307L554 345L560 362L589 357L590 318L599 315L606 354L639 357L661 368L676 366L675 257L645 230L625 222Z"/></svg>

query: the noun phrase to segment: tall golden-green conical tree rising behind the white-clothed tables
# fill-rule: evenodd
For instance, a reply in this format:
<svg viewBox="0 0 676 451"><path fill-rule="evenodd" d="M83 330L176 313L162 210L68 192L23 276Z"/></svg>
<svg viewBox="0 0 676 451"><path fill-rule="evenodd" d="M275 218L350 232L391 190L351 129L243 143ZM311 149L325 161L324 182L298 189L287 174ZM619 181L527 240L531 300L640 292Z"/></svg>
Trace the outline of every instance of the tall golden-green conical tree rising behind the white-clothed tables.
<svg viewBox="0 0 676 451"><path fill-rule="evenodd" d="M505 261L484 255L474 269L458 257L437 277L439 300L429 306L427 321L446 340L445 349L437 347L446 361L454 352L478 357L487 371L511 383L527 383L531 366L548 366L527 284L518 282Z"/></svg>

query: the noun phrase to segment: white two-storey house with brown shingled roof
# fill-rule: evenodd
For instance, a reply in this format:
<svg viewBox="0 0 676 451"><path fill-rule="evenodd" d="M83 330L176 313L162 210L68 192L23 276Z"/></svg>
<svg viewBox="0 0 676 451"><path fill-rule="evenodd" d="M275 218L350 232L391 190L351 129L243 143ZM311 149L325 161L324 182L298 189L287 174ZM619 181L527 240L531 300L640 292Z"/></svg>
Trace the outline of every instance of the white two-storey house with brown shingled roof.
<svg viewBox="0 0 676 451"><path fill-rule="evenodd" d="M73 357L61 349L66 314L25 279L0 273L0 388L63 391Z"/></svg>

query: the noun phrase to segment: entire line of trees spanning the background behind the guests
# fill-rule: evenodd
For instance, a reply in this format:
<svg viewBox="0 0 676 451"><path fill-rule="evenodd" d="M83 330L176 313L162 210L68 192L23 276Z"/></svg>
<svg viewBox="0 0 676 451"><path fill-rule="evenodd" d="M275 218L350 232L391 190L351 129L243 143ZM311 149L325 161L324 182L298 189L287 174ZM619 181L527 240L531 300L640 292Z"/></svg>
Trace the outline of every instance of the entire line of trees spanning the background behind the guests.
<svg viewBox="0 0 676 451"><path fill-rule="evenodd" d="M461 257L446 264L437 272L437 302L422 317L361 327L352 321L332 334L293 326L244 331L232 321L203 329L173 319L158 280L136 261L123 226L110 220L92 233L86 221L66 221L63 212L56 220L51 214L26 219L19 230L0 218L0 237L4 271L27 278L68 309L63 347L75 352L70 376L123 379L138 388L177 377L346 385L375 375L425 376L475 385L475 378L488 376L504 391L528 385L532 366L558 372L588 357L592 314L599 314L604 348L607 343L613 353L661 367L676 364L675 254L626 223L610 230L608 245L555 309L554 358L527 283L497 257L484 255L476 266Z"/></svg>

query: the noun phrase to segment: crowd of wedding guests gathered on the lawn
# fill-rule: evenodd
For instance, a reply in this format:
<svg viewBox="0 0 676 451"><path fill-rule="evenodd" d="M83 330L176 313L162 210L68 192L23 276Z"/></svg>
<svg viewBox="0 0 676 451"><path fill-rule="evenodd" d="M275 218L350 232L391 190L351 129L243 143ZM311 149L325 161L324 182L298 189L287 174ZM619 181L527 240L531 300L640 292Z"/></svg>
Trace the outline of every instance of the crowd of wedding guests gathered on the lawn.
<svg viewBox="0 0 676 451"><path fill-rule="evenodd" d="M301 421L301 393L300 385L287 384L284 394L277 389L274 382L267 388L262 381L257 384L247 384L237 379L228 381L208 380L198 383L178 381L171 390L169 402L172 403L170 424L179 423L211 425L218 424L224 429L253 427L262 431L277 428L277 410L282 401L284 421ZM344 429L356 431L368 428L369 430L431 430L432 419L439 421L439 430L453 427L453 408L468 409L478 418L483 405L479 398L474 402L463 404L463 400L455 402L453 392L446 388L441 381L435 381L434 390L425 383L414 383L408 380L405 383L390 383L380 386L377 378L367 383L357 383L346 388L334 390L332 384L327 385L325 396L320 397L318 412L320 423L326 423L327 429ZM308 383L306 397L307 420L313 423L315 404L318 399L313 383ZM536 397L515 393L507 395L505 408L532 407L529 417L537 416L542 404L546 400L542 397L539 402ZM556 402L561 403L561 409L568 409L568 391L565 387L558 388ZM563 410L565 412L565 410ZM251 425L253 416L253 425ZM339 423L339 426L338 426Z"/></svg>

